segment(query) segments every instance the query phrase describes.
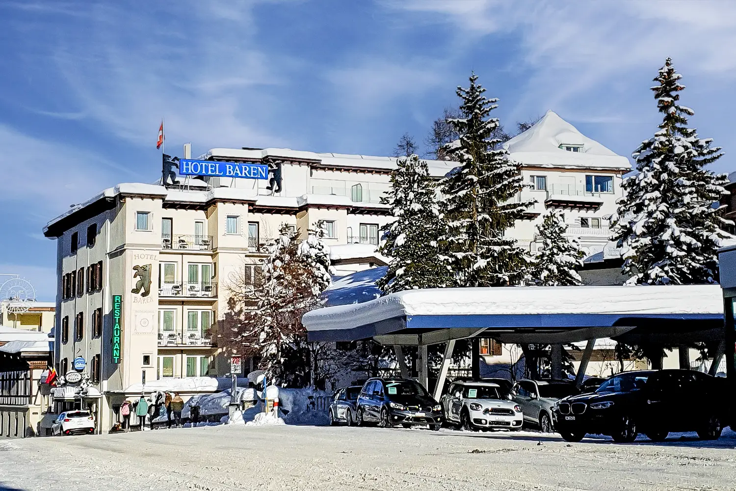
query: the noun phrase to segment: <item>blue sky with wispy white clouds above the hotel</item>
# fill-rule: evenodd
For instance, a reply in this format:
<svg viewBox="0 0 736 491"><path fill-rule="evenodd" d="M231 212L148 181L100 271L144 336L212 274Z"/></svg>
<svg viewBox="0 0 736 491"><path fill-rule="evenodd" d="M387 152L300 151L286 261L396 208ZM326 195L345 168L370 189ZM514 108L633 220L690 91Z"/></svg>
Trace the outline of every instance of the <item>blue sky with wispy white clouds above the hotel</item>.
<svg viewBox="0 0 736 491"><path fill-rule="evenodd" d="M736 170L736 2L30 0L0 4L0 272L55 292L43 225L174 154L284 146L390 155L471 70L502 124L553 109L621 155L651 136L667 56Z"/></svg>

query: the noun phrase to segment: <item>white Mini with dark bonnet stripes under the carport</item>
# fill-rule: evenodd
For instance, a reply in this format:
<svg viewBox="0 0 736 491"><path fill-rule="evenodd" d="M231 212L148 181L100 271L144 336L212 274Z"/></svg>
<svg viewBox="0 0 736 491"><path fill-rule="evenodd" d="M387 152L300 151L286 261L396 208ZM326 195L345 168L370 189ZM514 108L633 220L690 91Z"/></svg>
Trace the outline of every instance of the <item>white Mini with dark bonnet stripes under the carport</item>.
<svg viewBox="0 0 736 491"><path fill-rule="evenodd" d="M475 428L509 428L523 425L521 406L503 398L494 382L453 382L440 403L445 422L466 430Z"/></svg>

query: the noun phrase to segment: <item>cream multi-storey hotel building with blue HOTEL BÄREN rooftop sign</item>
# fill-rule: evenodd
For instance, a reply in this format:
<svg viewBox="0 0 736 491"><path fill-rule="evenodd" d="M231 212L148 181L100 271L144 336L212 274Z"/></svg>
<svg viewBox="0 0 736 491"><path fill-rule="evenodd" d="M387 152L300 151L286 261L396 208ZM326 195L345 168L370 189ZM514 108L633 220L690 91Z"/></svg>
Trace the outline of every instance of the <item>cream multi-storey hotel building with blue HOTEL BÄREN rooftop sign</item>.
<svg viewBox="0 0 736 491"><path fill-rule="evenodd" d="M542 213L562 208L567 232L581 240L589 260L598 255L603 263L608 218L629 161L553 112L505 146L530 186L517 199L537 201L512 236L536 250ZM188 158L186 152L185 146ZM230 372L229 356L217 345L228 285L237 278L258 284L265 246L282 224L305 237L324 222L325 242L343 275L388 261L375 247L392 220L381 197L395 158L215 148L202 160L212 168L219 162L268 166L269 179L210 173L175 180L169 161L159 181L165 186L118 184L43 230L57 240L54 363L64 375L84 358L91 384L85 405L99 411L103 431L135 384ZM455 163L429 160L428 167L439 179ZM250 368L245 361L240 370ZM57 402L61 410L74 399Z"/></svg>

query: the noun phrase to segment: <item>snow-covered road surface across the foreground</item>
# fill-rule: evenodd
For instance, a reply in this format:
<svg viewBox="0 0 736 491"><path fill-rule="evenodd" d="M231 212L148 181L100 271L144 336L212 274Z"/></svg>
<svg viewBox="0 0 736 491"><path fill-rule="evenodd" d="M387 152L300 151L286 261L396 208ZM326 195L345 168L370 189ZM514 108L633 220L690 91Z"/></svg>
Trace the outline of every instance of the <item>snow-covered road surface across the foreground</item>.
<svg viewBox="0 0 736 491"><path fill-rule="evenodd" d="M542 442L539 445L539 442ZM0 490L733 490L736 434L553 435L213 426L0 440Z"/></svg>

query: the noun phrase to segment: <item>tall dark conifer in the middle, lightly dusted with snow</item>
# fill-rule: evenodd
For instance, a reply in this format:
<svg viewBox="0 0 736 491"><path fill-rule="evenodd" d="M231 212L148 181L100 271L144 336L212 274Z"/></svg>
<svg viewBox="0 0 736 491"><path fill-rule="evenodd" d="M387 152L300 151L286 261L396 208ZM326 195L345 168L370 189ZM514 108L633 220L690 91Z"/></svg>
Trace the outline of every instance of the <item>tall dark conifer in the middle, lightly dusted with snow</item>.
<svg viewBox="0 0 736 491"><path fill-rule="evenodd" d="M447 232L449 266L454 286L505 286L526 282L528 255L506 229L533 202L514 199L525 186L518 164L493 138L498 119L489 114L498 99L486 99L486 91L470 76L470 87L458 87L461 117L448 120L460 138L445 146L450 160L460 166L439 183ZM444 251L443 251L444 252Z"/></svg>

